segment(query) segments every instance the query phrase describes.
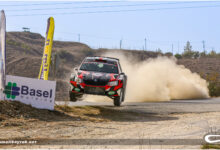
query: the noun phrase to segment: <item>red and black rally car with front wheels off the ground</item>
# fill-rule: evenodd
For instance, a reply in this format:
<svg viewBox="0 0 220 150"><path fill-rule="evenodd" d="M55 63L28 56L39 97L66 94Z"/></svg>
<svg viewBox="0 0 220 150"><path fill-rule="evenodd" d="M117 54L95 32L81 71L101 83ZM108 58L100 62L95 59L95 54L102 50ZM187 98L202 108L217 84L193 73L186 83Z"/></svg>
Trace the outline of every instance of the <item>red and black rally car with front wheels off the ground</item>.
<svg viewBox="0 0 220 150"><path fill-rule="evenodd" d="M86 57L71 75L70 101L83 94L105 95L120 106L125 99L127 76L122 72L119 59L112 57Z"/></svg>

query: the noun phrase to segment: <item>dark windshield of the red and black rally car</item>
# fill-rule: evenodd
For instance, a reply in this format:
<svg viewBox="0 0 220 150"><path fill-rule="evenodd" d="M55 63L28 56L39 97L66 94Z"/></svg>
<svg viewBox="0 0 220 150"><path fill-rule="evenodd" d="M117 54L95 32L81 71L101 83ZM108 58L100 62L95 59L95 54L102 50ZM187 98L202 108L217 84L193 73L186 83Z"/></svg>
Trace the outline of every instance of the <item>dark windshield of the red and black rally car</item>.
<svg viewBox="0 0 220 150"><path fill-rule="evenodd" d="M80 70L118 74L117 65L101 62L85 62L81 65Z"/></svg>

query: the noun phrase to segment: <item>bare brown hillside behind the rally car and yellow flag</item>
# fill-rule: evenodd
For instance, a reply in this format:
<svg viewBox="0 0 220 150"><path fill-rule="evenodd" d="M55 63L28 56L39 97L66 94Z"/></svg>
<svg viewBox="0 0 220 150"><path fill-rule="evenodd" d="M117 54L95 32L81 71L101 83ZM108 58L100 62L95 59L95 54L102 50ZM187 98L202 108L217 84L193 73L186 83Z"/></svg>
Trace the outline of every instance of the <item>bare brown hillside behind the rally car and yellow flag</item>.
<svg viewBox="0 0 220 150"><path fill-rule="evenodd" d="M37 78L43 55L44 37L37 33L8 32L6 46L6 73ZM100 56L107 51L121 52L126 56L132 55L139 61L158 56L158 53L148 51L95 50L82 43L61 41L54 41L52 51L53 53L58 53L61 58L59 70L56 74L56 100L68 98L68 79L70 73L86 56ZM178 63L199 74L220 72L220 60L217 58L180 59Z"/></svg>

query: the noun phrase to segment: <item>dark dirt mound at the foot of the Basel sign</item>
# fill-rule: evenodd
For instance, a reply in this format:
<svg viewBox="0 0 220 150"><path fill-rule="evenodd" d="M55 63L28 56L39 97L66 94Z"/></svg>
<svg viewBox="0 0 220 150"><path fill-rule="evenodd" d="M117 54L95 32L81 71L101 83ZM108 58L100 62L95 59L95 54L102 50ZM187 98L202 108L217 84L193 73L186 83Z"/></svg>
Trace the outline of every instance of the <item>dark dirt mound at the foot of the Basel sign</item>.
<svg viewBox="0 0 220 150"><path fill-rule="evenodd" d="M76 120L62 111L36 109L18 101L0 101L0 126L20 126L32 121Z"/></svg>

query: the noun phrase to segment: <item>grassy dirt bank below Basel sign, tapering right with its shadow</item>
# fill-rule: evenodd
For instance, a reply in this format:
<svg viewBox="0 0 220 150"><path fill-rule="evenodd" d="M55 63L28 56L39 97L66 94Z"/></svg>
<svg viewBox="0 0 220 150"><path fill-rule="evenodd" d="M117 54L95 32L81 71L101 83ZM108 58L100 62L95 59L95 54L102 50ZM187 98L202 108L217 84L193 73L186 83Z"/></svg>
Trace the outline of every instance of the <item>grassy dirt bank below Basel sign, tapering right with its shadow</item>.
<svg viewBox="0 0 220 150"><path fill-rule="evenodd" d="M0 126L27 126L32 122L62 121L146 121L165 118L154 114L143 114L132 111L101 106L67 106L58 105L54 111L36 109L17 101L0 101ZM168 118L169 119L169 118ZM170 118L173 119L173 118Z"/></svg>

